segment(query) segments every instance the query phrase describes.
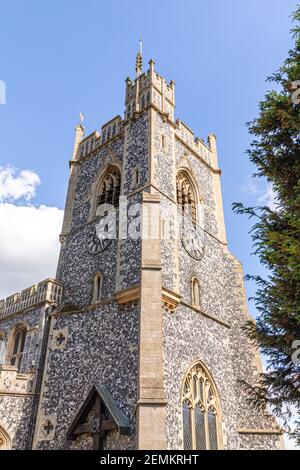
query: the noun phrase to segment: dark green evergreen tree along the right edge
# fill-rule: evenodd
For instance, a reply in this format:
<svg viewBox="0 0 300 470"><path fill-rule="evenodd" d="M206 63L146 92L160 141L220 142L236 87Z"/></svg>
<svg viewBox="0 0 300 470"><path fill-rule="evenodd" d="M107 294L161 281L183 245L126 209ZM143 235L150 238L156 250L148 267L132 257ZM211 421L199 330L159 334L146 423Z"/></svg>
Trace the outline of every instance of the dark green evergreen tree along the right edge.
<svg viewBox="0 0 300 470"><path fill-rule="evenodd" d="M245 326L267 358L267 370L256 386L244 384L256 407L270 405L300 443L300 6L294 13L294 48L268 81L259 116L248 123L254 136L248 155L276 194L276 208L235 203L236 213L255 220L251 231L254 253L267 268L267 277L254 279L256 323Z"/></svg>

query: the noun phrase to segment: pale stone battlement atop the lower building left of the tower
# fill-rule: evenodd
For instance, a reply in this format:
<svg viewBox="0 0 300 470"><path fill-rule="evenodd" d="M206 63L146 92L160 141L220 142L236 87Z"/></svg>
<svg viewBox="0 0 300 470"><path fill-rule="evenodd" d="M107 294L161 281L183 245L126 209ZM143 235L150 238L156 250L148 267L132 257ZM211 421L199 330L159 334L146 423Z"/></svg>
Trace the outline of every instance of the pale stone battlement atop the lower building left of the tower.
<svg viewBox="0 0 300 470"><path fill-rule="evenodd" d="M59 304L62 299L63 287L54 279L46 279L27 289L0 300L0 319L19 313L27 308L44 302Z"/></svg>

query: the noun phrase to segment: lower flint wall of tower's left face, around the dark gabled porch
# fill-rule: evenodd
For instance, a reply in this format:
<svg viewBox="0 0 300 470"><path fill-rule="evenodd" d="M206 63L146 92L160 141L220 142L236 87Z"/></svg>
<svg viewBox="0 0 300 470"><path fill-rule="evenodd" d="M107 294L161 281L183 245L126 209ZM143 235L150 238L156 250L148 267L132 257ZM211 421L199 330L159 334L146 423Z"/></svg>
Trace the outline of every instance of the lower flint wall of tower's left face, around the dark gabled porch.
<svg viewBox="0 0 300 470"><path fill-rule="evenodd" d="M64 314L54 331L67 328L63 349L49 351L42 415L55 416L54 438L39 441L38 449L62 449L66 432L93 384L105 384L127 416L132 437L120 436L126 448L135 446L137 400L138 310L120 311L115 304L84 313ZM86 441L88 445L88 440Z"/></svg>

